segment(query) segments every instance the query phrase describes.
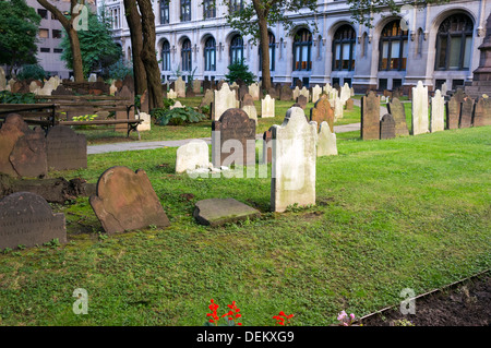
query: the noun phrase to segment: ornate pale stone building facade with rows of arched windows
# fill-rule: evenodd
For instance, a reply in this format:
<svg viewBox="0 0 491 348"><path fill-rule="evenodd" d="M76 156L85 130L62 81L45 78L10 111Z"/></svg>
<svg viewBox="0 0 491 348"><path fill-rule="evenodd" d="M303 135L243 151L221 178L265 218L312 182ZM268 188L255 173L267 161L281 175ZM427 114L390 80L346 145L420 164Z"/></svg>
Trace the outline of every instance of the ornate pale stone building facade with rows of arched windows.
<svg viewBox="0 0 491 348"><path fill-rule="evenodd" d="M175 80L180 73L197 80L220 80L239 58L261 76L258 45L227 24L228 7L217 1L212 9L209 2L154 1L163 81ZM115 19L115 39L130 60L123 1L104 3ZM284 84L296 80L307 85L348 83L357 92L409 88L418 81L430 89L444 82L448 88L456 88L472 81L490 12L491 0L450 0L405 8L398 16L375 14L372 27L368 27L351 22L346 1L319 0L315 14L307 9L289 14L295 23L292 33L279 24L270 27L272 79Z"/></svg>

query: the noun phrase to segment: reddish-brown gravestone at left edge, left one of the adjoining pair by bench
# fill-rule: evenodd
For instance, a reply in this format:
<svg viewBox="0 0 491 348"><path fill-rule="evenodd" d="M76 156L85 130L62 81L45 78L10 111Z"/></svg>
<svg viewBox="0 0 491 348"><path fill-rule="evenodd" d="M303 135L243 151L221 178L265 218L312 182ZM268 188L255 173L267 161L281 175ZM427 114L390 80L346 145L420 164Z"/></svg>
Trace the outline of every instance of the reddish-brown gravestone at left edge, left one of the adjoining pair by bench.
<svg viewBox="0 0 491 348"><path fill-rule="evenodd" d="M16 113L8 115L0 128L0 172L28 178L48 173L45 132L31 130Z"/></svg>

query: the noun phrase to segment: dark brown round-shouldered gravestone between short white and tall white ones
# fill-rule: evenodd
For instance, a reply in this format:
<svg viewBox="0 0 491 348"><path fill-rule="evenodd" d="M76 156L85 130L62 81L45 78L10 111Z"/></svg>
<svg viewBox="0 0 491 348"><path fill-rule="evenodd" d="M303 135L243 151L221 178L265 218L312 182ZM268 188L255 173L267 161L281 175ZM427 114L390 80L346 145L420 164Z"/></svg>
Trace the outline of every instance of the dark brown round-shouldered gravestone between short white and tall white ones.
<svg viewBox="0 0 491 348"><path fill-rule="evenodd" d="M255 121L246 111L230 108L213 121L212 163L217 168L255 164Z"/></svg>

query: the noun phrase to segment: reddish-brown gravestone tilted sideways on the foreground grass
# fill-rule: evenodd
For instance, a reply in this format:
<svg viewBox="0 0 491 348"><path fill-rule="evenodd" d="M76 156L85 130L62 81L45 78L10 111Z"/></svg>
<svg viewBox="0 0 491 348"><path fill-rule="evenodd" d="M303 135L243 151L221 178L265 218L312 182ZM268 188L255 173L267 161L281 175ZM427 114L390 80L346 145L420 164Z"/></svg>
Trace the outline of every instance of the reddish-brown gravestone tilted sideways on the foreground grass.
<svg viewBox="0 0 491 348"><path fill-rule="evenodd" d="M170 225L152 183L142 169L111 167L97 181L97 193L89 203L109 235Z"/></svg>

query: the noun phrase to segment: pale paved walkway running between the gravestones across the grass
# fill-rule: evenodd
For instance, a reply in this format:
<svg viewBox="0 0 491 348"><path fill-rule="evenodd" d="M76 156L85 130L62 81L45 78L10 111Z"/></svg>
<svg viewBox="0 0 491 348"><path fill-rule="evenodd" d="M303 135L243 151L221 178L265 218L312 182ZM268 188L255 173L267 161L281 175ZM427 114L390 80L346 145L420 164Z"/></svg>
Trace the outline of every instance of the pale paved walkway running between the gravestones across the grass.
<svg viewBox="0 0 491 348"><path fill-rule="evenodd" d="M351 123L344 125L335 125L335 133L345 133L351 131L359 131L361 123ZM263 134L258 134L256 139L262 139ZM211 137L201 137L208 144L211 144ZM163 147L179 147L191 142L193 139L184 139L184 140L175 140L175 141L154 141L154 142L131 142L131 143L115 143L115 144L103 144L103 145L91 145L87 146L87 154L106 154L113 152L123 152L123 151L139 151L139 149L153 149L153 148L163 148Z"/></svg>

